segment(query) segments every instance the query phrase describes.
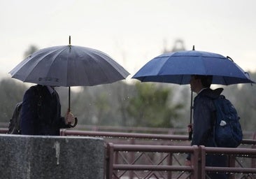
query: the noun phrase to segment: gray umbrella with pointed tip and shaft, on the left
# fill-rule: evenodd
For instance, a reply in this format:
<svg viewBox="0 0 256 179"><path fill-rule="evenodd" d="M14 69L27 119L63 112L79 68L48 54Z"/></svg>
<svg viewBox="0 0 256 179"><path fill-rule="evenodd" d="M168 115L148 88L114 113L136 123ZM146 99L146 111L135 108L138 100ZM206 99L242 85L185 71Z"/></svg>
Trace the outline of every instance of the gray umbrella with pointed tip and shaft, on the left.
<svg viewBox="0 0 256 179"><path fill-rule="evenodd" d="M15 66L12 78L27 83L69 87L93 86L123 80L129 73L104 52L74 46L44 48Z"/></svg>

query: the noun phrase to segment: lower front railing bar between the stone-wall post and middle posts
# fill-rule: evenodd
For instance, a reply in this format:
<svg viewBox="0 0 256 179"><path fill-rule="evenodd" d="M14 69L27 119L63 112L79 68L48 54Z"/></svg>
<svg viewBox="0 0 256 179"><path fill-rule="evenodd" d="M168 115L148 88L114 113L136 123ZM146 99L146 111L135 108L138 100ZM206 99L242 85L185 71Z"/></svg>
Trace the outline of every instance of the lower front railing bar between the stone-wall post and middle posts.
<svg viewBox="0 0 256 179"><path fill-rule="evenodd" d="M113 164L114 170L120 171L193 171L191 166L168 166L168 165L127 165Z"/></svg>

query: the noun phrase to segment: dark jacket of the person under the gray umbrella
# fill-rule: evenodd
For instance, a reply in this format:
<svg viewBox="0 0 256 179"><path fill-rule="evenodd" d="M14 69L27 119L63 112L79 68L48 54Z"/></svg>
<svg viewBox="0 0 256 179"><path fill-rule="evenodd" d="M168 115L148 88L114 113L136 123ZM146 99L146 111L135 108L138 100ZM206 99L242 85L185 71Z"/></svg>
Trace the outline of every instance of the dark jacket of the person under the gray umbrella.
<svg viewBox="0 0 256 179"><path fill-rule="evenodd" d="M59 136L59 129L69 127L61 116L57 92L50 94L42 85L30 87L23 96L20 126L22 134L50 136Z"/></svg>

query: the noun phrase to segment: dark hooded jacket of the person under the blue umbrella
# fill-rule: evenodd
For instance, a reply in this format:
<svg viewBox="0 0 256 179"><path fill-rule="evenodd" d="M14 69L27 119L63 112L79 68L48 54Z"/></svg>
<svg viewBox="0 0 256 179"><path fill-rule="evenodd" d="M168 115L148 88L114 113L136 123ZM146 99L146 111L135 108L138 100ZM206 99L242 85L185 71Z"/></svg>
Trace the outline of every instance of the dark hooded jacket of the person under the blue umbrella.
<svg viewBox="0 0 256 179"><path fill-rule="evenodd" d="M217 99L222 90L222 88L216 90L206 88L194 98L192 145L214 147L213 122L215 119L215 106L213 99Z"/></svg>

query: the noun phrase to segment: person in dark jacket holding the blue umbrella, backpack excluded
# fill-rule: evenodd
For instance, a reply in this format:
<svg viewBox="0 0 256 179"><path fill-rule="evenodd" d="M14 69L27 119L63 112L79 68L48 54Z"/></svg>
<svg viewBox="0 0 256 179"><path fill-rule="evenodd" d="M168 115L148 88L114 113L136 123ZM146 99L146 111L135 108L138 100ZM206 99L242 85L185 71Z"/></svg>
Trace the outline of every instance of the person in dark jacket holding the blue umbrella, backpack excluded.
<svg viewBox="0 0 256 179"><path fill-rule="evenodd" d="M217 99L222 88L211 90L213 76L193 75L190 80L192 92L197 93L194 98L194 114L193 114L193 137L191 145L204 145L206 147L215 147L213 137L213 117L215 106L213 99ZM190 155L187 157L186 165L190 165ZM227 167L227 156L225 155L207 155L206 166L222 166ZM225 173L207 173L214 179L225 179Z"/></svg>

